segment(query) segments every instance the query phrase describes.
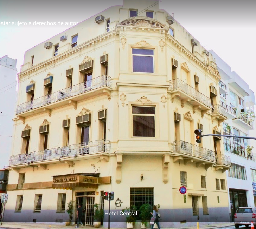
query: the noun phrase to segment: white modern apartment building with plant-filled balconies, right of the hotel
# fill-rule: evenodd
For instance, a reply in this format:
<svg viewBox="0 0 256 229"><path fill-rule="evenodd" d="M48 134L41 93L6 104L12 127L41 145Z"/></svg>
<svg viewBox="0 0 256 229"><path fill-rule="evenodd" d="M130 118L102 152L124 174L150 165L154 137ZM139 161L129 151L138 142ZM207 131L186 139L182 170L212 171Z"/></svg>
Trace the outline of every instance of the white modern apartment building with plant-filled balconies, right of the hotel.
<svg viewBox="0 0 256 229"><path fill-rule="evenodd" d="M216 59L221 76L220 106L231 112L229 119L223 122L223 134L252 136L254 130L254 92L249 85L228 66L216 53L210 50ZM231 165L227 171L229 190L230 219L238 207L256 206L256 160L253 155L255 140L224 137L224 152L230 156Z"/></svg>

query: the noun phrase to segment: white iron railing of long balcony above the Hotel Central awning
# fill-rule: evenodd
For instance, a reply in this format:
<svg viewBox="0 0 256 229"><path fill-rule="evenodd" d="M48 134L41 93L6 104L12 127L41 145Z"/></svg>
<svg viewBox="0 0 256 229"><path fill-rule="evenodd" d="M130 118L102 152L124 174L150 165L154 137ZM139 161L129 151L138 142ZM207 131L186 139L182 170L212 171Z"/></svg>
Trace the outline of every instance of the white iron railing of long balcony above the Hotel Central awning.
<svg viewBox="0 0 256 229"><path fill-rule="evenodd" d="M31 161L39 162L54 159L61 160L65 157L76 157L80 155L95 154L100 152L110 152L110 141L102 139L53 149L39 150L32 153L12 155L9 160L9 166L26 164Z"/></svg>

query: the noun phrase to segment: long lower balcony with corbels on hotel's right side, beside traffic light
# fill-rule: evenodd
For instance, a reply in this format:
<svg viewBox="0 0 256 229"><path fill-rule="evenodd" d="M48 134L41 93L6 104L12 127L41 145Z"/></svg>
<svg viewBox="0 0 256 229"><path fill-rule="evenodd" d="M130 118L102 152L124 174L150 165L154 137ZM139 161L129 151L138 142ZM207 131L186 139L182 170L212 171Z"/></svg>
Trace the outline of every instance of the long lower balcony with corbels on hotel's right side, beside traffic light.
<svg viewBox="0 0 256 229"><path fill-rule="evenodd" d="M196 162L197 167L205 166L206 169L216 163L214 151L188 142L172 142L172 150L174 155L173 162L184 160L185 165Z"/></svg>

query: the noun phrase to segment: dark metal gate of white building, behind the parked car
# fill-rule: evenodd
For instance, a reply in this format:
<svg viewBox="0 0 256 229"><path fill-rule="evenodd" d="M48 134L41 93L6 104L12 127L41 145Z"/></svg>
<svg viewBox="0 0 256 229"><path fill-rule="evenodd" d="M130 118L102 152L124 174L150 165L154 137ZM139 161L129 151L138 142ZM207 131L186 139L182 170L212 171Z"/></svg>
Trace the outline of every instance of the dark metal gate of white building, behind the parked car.
<svg viewBox="0 0 256 229"><path fill-rule="evenodd" d="M247 207L247 198L245 190L229 189L230 210L232 221L234 221L234 214L237 208Z"/></svg>

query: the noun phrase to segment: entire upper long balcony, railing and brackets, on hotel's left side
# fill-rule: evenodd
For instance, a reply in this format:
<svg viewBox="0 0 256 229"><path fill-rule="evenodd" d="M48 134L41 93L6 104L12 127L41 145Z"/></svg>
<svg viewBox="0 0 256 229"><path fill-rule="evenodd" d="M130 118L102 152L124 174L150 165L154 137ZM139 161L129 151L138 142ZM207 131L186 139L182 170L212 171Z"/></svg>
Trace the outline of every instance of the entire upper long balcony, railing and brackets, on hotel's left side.
<svg viewBox="0 0 256 229"><path fill-rule="evenodd" d="M51 109L72 104L76 107L77 102L108 93L111 88L111 77L102 75L92 80L84 81L72 87L53 92L32 101L20 104L16 108L16 115L27 117L42 112L51 113Z"/></svg>

